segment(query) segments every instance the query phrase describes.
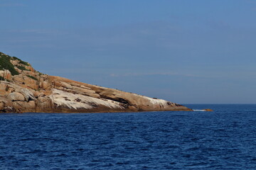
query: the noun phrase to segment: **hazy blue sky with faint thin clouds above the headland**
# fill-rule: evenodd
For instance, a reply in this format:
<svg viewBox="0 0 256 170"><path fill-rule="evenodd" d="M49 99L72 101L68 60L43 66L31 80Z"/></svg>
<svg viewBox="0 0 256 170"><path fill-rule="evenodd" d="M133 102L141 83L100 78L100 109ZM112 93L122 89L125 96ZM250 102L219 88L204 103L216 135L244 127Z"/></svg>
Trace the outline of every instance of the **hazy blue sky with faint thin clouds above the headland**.
<svg viewBox="0 0 256 170"><path fill-rule="evenodd" d="M0 0L0 51L176 103L256 103L256 0Z"/></svg>

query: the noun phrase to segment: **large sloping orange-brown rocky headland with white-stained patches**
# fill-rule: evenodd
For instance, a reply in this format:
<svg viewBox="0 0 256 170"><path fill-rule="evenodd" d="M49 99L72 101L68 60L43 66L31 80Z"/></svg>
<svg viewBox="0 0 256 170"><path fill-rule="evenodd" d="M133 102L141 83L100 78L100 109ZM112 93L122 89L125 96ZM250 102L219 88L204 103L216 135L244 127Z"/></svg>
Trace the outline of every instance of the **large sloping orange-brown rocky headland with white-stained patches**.
<svg viewBox="0 0 256 170"><path fill-rule="evenodd" d="M0 52L1 113L191 111L177 103L37 72Z"/></svg>

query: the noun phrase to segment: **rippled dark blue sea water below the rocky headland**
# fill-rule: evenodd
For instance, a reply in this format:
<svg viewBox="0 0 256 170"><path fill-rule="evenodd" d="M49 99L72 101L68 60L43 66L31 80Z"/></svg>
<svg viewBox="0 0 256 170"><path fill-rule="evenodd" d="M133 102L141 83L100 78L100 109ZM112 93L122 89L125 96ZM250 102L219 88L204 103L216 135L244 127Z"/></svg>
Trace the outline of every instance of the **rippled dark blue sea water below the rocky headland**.
<svg viewBox="0 0 256 170"><path fill-rule="evenodd" d="M0 114L0 169L256 169L256 105Z"/></svg>

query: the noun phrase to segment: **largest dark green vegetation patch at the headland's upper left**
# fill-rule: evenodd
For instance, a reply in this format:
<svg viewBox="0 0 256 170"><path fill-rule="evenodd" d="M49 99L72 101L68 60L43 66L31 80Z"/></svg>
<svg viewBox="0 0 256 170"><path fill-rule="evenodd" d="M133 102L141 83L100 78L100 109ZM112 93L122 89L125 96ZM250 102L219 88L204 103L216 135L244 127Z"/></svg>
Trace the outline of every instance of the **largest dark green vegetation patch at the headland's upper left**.
<svg viewBox="0 0 256 170"><path fill-rule="evenodd" d="M14 69L14 65L11 64L10 60L11 57L9 55L0 52L0 70L8 69L13 76L18 75L18 72Z"/></svg>

